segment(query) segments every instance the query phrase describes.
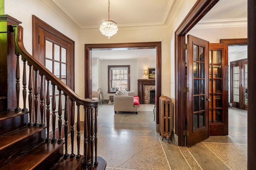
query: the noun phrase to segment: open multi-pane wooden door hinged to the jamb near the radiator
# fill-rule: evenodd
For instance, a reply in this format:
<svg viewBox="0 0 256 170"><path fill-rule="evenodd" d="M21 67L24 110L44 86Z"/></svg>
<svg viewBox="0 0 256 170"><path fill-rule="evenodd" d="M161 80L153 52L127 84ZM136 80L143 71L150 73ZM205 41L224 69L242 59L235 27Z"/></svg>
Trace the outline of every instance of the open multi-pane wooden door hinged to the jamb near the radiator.
<svg viewBox="0 0 256 170"><path fill-rule="evenodd" d="M187 50L187 146L209 137L209 42L188 35Z"/></svg>

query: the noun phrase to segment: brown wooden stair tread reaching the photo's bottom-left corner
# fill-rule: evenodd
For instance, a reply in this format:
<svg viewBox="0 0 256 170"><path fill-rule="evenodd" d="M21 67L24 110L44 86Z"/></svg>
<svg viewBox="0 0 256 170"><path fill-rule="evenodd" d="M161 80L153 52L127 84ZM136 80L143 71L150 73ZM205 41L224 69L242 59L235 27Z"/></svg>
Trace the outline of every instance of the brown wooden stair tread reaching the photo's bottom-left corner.
<svg viewBox="0 0 256 170"><path fill-rule="evenodd" d="M1 170L32 170L37 168L42 162L49 159L48 157L54 150L62 147L64 140L60 143L42 142L36 147L32 148L18 158L8 162L0 167ZM61 156L60 156L61 157ZM59 158L60 158L59 157ZM43 168L43 167L41 167ZM40 168L39 168L40 169Z"/></svg>

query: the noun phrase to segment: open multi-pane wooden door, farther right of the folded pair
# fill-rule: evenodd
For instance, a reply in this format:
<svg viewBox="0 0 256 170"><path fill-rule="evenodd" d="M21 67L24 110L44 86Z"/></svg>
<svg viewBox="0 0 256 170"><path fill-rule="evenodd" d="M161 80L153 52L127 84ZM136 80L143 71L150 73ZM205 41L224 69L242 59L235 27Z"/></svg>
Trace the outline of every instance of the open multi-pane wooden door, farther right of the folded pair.
<svg viewBox="0 0 256 170"><path fill-rule="evenodd" d="M209 44L209 131L228 135L228 45Z"/></svg>

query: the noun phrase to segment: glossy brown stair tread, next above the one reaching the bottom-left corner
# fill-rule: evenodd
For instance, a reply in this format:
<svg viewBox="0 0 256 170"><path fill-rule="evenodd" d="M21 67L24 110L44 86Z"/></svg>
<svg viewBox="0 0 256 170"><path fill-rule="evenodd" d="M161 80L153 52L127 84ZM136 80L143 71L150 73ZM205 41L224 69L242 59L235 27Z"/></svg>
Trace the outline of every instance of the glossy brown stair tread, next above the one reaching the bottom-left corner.
<svg viewBox="0 0 256 170"><path fill-rule="evenodd" d="M27 138L34 133L37 133L46 127L22 127L12 132L2 134L0 136L0 150L2 148L8 147L24 138Z"/></svg>

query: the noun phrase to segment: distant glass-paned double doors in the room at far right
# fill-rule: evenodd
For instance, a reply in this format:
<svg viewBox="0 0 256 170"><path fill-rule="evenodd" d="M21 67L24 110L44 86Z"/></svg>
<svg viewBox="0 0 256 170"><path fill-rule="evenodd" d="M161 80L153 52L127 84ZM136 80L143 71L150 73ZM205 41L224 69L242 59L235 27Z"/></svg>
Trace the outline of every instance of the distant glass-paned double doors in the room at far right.
<svg viewBox="0 0 256 170"><path fill-rule="evenodd" d="M230 92L233 107L247 110L248 107L248 61L230 62Z"/></svg>

